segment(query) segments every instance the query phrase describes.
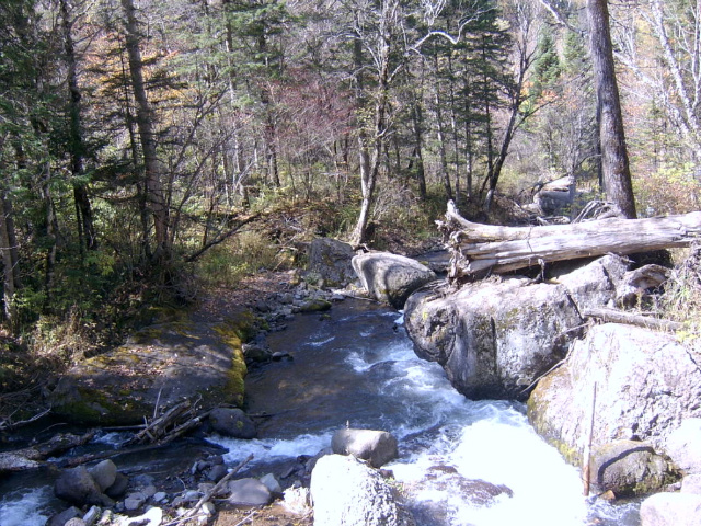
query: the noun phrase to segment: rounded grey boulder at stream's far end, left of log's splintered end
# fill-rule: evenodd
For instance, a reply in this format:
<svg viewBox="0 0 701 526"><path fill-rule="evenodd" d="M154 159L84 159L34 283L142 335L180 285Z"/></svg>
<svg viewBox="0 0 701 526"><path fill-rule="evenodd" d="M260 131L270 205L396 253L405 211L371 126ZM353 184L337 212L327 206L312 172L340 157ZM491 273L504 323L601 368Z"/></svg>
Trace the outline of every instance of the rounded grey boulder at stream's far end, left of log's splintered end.
<svg viewBox="0 0 701 526"><path fill-rule="evenodd" d="M436 274L416 260L389 252L368 252L352 260L365 289L379 301L397 309L417 288L436 279Z"/></svg>

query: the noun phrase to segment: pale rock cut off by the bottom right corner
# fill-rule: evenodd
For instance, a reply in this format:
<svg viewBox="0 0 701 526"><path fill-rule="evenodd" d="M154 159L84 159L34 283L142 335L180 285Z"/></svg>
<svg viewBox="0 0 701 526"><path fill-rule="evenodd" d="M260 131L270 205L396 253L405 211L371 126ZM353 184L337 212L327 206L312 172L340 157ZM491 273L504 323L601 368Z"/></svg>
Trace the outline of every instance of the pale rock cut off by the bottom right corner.
<svg viewBox="0 0 701 526"><path fill-rule="evenodd" d="M641 526L701 526L701 495L657 493L640 506Z"/></svg>

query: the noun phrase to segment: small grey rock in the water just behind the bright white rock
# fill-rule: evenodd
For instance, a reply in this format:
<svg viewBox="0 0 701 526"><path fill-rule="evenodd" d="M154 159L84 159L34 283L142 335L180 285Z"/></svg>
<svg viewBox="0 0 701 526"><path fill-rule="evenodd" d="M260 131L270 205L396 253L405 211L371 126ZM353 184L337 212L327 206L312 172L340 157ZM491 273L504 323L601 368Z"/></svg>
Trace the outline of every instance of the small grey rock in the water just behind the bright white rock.
<svg viewBox="0 0 701 526"><path fill-rule="evenodd" d="M379 468L397 458L397 438L386 431L338 430L331 439L336 455L353 455Z"/></svg>

